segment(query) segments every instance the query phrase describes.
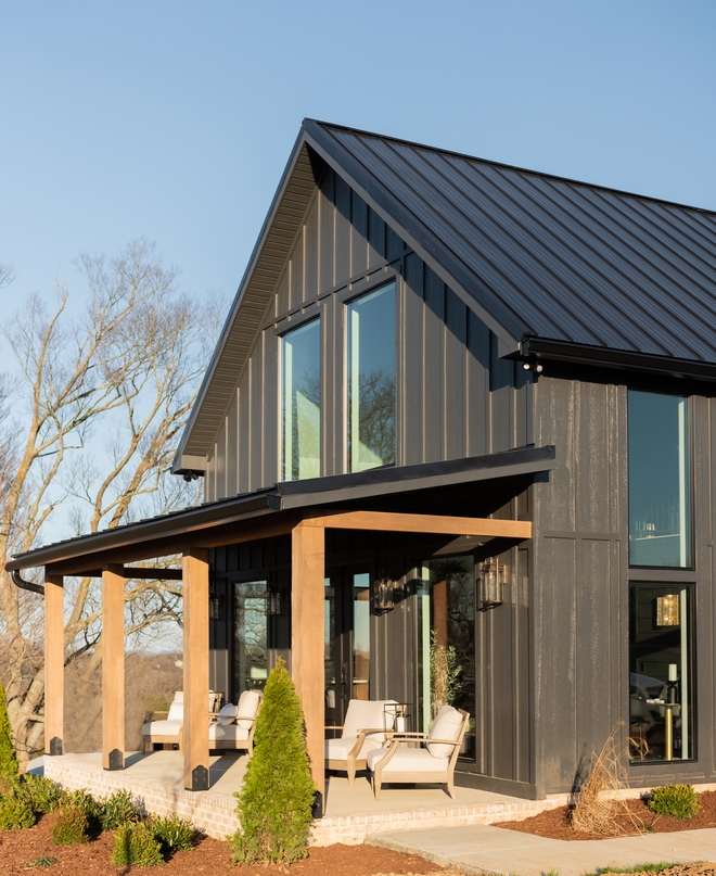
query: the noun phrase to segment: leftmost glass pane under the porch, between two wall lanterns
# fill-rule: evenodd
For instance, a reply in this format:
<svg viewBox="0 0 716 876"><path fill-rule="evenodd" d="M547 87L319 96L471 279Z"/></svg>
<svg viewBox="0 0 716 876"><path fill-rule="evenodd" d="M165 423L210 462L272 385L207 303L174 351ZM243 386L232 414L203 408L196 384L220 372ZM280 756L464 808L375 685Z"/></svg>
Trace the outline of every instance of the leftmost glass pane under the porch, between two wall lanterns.
<svg viewBox="0 0 716 876"><path fill-rule="evenodd" d="M233 690L264 689L268 675L267 582L234 585Z"/></svg>

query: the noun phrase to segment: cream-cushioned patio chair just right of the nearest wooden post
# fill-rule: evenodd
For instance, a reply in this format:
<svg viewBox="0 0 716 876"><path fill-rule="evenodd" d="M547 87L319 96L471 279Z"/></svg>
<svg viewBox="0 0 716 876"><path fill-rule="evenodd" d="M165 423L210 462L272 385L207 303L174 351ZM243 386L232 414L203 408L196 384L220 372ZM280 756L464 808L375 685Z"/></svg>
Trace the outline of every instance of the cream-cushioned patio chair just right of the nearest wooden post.
<svg viewBox="0 0 716 876"><path fill-rule="evenodd" d="M325 740L325 766L328 770L345 770L350 787L356 780L356 771L366 769L368 752L380 749L393 732L395 712L386 711L386 706L396 706L396 701L351 699L345 723L325 727L343 731L340 739Z"/></svg>

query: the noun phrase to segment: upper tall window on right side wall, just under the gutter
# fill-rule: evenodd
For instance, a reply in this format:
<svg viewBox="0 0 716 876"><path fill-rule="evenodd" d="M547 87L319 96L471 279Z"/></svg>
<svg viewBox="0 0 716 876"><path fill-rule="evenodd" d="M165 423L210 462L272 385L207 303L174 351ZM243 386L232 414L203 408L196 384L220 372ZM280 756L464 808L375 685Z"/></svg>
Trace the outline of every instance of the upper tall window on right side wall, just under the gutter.
<svg viewBox="0 0 716 876"><path fill-rule="evenodd" d="M629 391L629 563L691 567L688 402Z"/></svg>

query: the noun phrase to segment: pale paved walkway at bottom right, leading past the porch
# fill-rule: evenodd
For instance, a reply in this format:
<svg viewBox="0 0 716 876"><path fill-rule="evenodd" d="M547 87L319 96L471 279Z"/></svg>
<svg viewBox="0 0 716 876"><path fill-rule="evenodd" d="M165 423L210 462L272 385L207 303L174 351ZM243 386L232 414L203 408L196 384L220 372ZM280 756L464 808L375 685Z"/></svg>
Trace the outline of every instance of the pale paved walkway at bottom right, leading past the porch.
<svg viewBox="0 0 716 876"><path fill-rule="evenodd" d="M716 828L567 842L478 824L374 834L366 841L476 874L580 876L609 866L716 861Z"/></svg>

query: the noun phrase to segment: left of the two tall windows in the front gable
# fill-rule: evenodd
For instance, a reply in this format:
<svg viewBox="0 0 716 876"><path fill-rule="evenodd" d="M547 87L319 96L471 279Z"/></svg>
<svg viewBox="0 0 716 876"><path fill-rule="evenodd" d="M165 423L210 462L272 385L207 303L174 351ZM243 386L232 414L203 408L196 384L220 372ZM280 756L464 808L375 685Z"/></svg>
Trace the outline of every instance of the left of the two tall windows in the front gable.
<svg viewBox="0 0 716 876"><path fill-rule="evenodd" d="M283 480L321 473L321 323L281 339L283 364Z"/></svg>

